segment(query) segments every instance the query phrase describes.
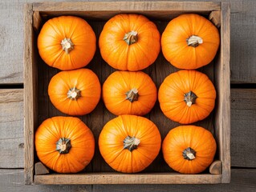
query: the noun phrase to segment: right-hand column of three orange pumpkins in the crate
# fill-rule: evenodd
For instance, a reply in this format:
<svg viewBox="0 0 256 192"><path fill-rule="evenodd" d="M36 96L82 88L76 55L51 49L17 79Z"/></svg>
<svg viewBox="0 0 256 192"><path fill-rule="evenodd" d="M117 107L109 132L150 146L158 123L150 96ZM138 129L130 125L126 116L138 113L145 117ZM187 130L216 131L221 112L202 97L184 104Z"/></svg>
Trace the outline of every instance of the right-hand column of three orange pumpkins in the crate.
<svg viewBox="0 0 256 192"><path fill-rule="evenodd" d="M198 14L181 14L166 26L161 37L164 57L177 72L161 83L158 100L167 118L181 125L170 130L162 144L165 162L182 174L198 174L216 153L213 134L189 125L209 116L216 90L206 74L197 71L215 57L220 43L218 30Z"/></svg>

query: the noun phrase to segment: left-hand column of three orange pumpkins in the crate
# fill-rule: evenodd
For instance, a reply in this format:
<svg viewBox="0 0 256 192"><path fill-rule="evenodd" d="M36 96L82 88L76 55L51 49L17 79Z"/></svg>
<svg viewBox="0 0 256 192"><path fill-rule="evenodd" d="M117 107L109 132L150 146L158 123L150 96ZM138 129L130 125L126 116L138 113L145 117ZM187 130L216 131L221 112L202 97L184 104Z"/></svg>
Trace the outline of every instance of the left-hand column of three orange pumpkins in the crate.
<svg viewBox="0 0 256 192"><path fill-rule="evenodd" d="M82 18L60 16L44 23L38 37L39 55L61 70L48 85L51 103L63 114L91 113L100 101L97 75L87 66L96 50L95 33ZM95 152L91 130L75 117L47 118L35 134L39 160L58 173L83 170Z"/></svg>

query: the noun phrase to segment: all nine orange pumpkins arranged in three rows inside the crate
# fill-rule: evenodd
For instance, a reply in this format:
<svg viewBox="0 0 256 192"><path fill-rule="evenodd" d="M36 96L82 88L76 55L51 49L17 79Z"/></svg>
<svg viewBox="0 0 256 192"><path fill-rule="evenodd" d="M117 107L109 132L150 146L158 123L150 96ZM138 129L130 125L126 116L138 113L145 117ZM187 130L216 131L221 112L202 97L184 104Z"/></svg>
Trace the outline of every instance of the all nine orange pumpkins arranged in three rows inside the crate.
<svg viewBox="0 0 256 192"><path fill-rule="evenodd" d="M162 153L165 162L183 174L205 170L216 152L213 134L198 122L213 111L216 90L197 69L209 64L220 43L218 30L198 14L181 14L163 34L141 14L117 14L100 33L100 55L116 71L104 81L85 66L94 57L95 33L82 18L51 18L38 37L39 55L61 71L51 78L48 95L63 114L82 116L95 109L100 96L114 115L100 132L99 149L112 169L136 173ZM152 78L142 70L156 61L160 51L179 70L169 74L157 92ZM143 117L160 103L167 118L181 123L164 142L157 126ZM182 125L185 124L185 125ZM168 127L167 127L168 128ZM59 173L83 170L95 152L91 130L76 117L47 118L35 134L39 160Z"/></svg>

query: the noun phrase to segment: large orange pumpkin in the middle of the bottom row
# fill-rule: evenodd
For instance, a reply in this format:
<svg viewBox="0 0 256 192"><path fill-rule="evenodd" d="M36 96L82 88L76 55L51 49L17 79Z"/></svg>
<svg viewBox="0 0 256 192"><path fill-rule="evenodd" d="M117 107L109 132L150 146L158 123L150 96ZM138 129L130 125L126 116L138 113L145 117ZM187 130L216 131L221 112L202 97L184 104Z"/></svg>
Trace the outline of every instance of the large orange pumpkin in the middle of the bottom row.
<svg viewBox="0 0 256 192"><path fill-rule="evenodd" d="M120 115L104 126L99 147L100 154L114 170L136 173L156 158L161 148L161 135L147 118Z"/></svg>

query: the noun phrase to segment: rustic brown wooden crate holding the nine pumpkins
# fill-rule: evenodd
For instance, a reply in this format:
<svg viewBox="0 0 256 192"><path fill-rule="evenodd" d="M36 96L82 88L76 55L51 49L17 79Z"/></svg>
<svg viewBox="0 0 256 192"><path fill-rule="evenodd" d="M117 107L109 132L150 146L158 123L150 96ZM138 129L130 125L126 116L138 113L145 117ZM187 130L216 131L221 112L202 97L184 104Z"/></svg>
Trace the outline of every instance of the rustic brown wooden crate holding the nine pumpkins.
<svg viewBox="0 0 256 192"><path fill-rule="evenodd" d="M160 153L154 162L138 174L121 174L112 170L100 156L97 146L100 130L115 116L106 110L100 100L91 114L79 117L95 135L95 156L79 174L35 174L39 159L35 153L35 130L46 118L64 115L51 104L47 86L53 75L59 72L47 66L39 57L36 46L39 30L47 19L59 15L75 15L84 18L99 38L104 23L120 13L144 14L162 33L167 23L184 13L197 13L209 18L221 34L221 46L216 58L208 66L201 67L217 90L213 113L201 122L194 123L210 130L217 140L216 161L210 170L201 174L179 174L165 163ZM205 184L230 182L230 5L226 2L42 2L25 6L24 45L24 109L25 109L25 181L26 184ZM114 69L101 58L97 47L95 57L86 66L100 78L100 83ZM177 71L160 53L156 62L144 70L156 83L157 88L170 73ZM159 103L145 117L156 123L162 140L173 127L178 126L161 113ZM214 169L218 167L218 169ZM36 169L37 169L36 168ZM217 170L217 171L216 171Z"/></svg>

